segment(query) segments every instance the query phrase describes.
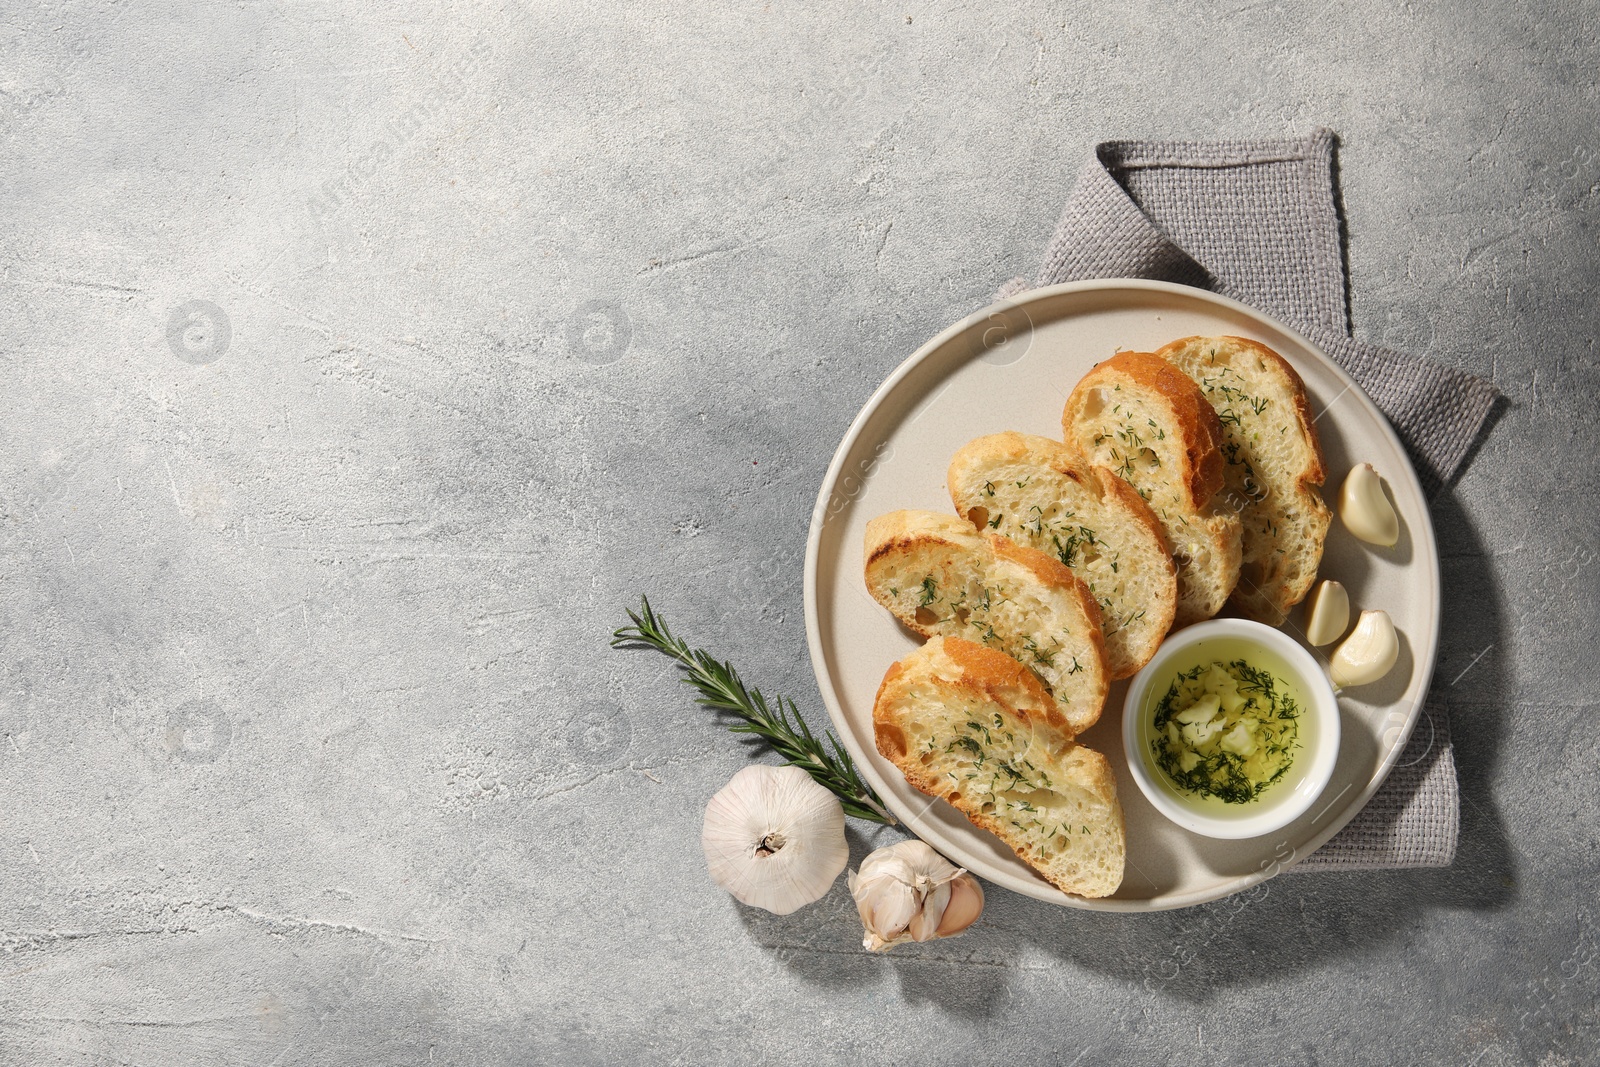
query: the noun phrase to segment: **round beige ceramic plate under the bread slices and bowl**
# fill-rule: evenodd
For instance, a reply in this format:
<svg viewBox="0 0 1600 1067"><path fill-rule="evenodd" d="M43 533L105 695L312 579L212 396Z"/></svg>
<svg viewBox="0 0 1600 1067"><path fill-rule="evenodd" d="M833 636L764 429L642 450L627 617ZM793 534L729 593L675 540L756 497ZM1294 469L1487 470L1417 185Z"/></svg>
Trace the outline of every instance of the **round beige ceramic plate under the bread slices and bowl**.
<svg viewBox="0 0 1600 1067"><path fill-rule="evenodd" d="M1342 741L1333 781L1310 811L1270 837L1216 841L1162 817L1128 776L1118 681L1083 742L1117 771L1128 822L1128 869L1115 896L1085 901L1038 878L998 838L942 800L910 789L872 744L872 699L891 662L917 640L862 584L867 520L901 507L950 510L944 470L963 443L998 430L1061 435L1072 386L1118 349L1154 350L1190 334L1254 338L1306 379L1328 461L1330 502L1352 464L1371 462L1400 514L1400 544L1374 549L1338 520L1322 576L1344 582L1352 609L1382 608L1402 633L1400 662L1339 697ZM906 825L954 862L1018 893L1094 910L1187 907L1238 893L1312 853L1389 774L1416 723L1438 641L1438 555L1416 474L1389 422L1328 357L1288 326L1235 301L1158 282L1058 285L995 304L906 360L867 402L822 480L806 545L805 608L822 699L862 774ZM1302 625L1290 617L1291 632ZM1318 656L1325 659L1325 656Z"/></svg>

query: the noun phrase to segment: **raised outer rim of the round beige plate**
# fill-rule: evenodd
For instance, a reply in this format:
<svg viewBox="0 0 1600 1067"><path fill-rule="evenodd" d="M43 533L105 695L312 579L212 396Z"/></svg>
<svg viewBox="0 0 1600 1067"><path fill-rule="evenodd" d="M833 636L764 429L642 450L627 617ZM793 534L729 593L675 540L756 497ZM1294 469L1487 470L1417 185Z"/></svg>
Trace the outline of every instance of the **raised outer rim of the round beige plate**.
<svg viewBox="0 0 1600 1067"><path fill-rule="evenodd" d="M990 304L986 304L984 307L978 309L976 312L973 312L970 315L965 315L960 320L950 323L949 326L946 326L944 330L941 330L939 333L936 333L933 338L930 338L926 342L923 342L915 352L912 352L909 357L906 357L893 371L890 371L890 374L883 379L883 382L861 405L861 410L856 413L856 418L851 419L850 429L845 430L843 438L840 438L838 446L834 450L834 458L829 461L827 470L822 475L822 483L818 488L816 504L811 509L811 523L810 523L810 528L806 531L805 582L803 582L802 597L803 597L803 605L805 605L806 651L808 651L810 659L811 659L811 673L813 673L813 677L816 680L818 689L822 694L822 704L827 707L829 720L830 720L834 729L838 733L840 741L850 750L851 758L856 761L856 766L861 771L862 777L866 777L867 784L872 785L875 792L878 792L880 798L883 798L885 805L890 806L890 809L894 813L894 816L898 819L901 819L901 825L909 833L915 835L915 832L910 829L909 821L906 819L906 816L902 813L899 813L899 811L894 811L893 801L886 797L888 790L885 789L883 779L878 774L877 768L872 765L870 758L867 758L867 753L859 749L859 745L856 744L854 734L850 729L846 729L843 709L840 707L840 704L838 704L838 701L835 697L837 686L835 686L835 681L832 678L832 673L827 669L826 659L822 656L822 632L821 632L821 619L819 619L819 614L818 614L818 598L816 598L816 571L818 571L818 561L819 561L819 557L821 557L822 526L827 522L829 504L834 499L834 491L835 491L835 486L838 483L840 474L843 470L845 461L850 456L850 453L854 450L856 442L859 440L862 430L866 429L867 421L874 416L874 413L878 410L878 406L890 397L890 394L894 392L894 389L902 381L906 381L906 378L909 378L934 352L938 352L939 349L942 349L954 338L958 338L960 334L963 334L968 330L971 330L974 325L978 325L981 322L986 322L986 320L992 318L997 314L1003 314L1003 312L1008 312L1008 310L1013 310L1013 309L1018 309L1018 307L1024 307L1024 306L1032 304L1032 302L1040 302L1040 301L1053 299L1056 296L1066 296L1066 294L1075 294L1075 293L1094 293L1094 291L1112 293L1112 291L1128 291L1128 290L1131 290L1131 291L1146 291L1146 293L1162 293L1162 294L1176 296L1176 298L1182 298L1182 299L1198 299L1200 302L1214 304L1214 306L1218 306L1221 309L1226 309L1226 310L1230 310L1234 314L1242 314L1246 318L1259 320L1264 325L1270 326L1272 330L1277 330L1277 331L1290 336L1296 344L1299 344L1302 349L1306 349L1312 357L1315 357L1317 360L1320 360L1325 365L1325 368L1330 370L1334 374L1334 378L1339 379L1344 384L1344 392L1354 392L1362 400L1365 400L1368 403L1368 406L1371 406L1371 410L1378 413L1378 416L1379 416L1379 419L1378 419L1378 430L1384 437L1387 437L1389 445L1394 448L1395 454L1400 456L1400 459L1405 462L1405 475L1411 482L1411 486L1416 490L1418 499L1422 502L1422 509L1421 509L1422 523L1421 523L1419 530L1413 530L1411 531L1411 536L1413 536L1413 539L1414 539L1414 542L1418 544L1418 549L1419 549L1419 552L1416 552L1416 555L1418 557L1421 557L1424 553L1427 555L1427 565L1429 565L1429 569L1430 569L1430 574L1432 574L1434 592L1435 592L1435 598L1434 598L1435 605L1434 605L1432 617L1429 619L1429 625L1427 625L1427 657L1426 657L1426 661L1422 661L1422 659L1418 661L1418 665L1419 665L1419 672L1418 672L1418 678L1419 678L1418 691L1421 693L1421 697L1413 705L1410 717L1406 718L1405 725L1400 728L1398 739L1390 747L1389 753L1384 757L1382 765L1379 765L1378 771L1366 782L1366 787L1362 790L1360 797L1357 797L1355 800L1352 800L1350 803L1347 803L1346 808L1344 808L1344 811L1339 813L1339 816L1336 816L1326 827L1323 827L1322 830L1318 830L1317 833L1314 833L1309 838L1309 841L1307 841L1309 848L1306 849L1304 856L1294 856L1293 859L1290 859L1286 862L1272 862L1272 864L1264 865L1261 870L1258 870L1254 873L1240 875L1235 880L1226 883L1226 888L1222 888L1221 891L1216 891L1216 889L1195 889L1195 891L1190 891L1187 894L1179 894L1178 897L1170 899L1170 901L1152 901L1152 899L1142 899L1141 901L1141 899L1112 899L1112 897L1090 899L1090 897L1078 897L1078 896L1072 896L1072 894L1062 893L1062 891L1056 889L1054 886L1050 886L1048 883L1040 883L1040 886L1032 886L1032 885L1029 885L1029 886L1018 886L1018 885L1006 886L1006 888L1010 888L1010 889L1013 889L1016 893L1021 893L1024 896L1030 896L1034 899L1045 901L1045 902L1050 902L1050 904L1058 904L1058 905L1062 905L1062 907L1072 907L1072 909L1091 910L1091 912L1125 912L1125 913L1126 912L1134 912L1134 913L1138 913L1138 912L1165 912L1165 910L1174 910L1174 909L1182 909L1182 907L1195 907L1198 904L1208 904L1211 901L1219 901L1219 899L1234 896L1237 893L1243 893L1245 889L1250 889L1250 888L1253 888L1256 885L1261 885L1262 881L1277 877L1283 870L1288 870L1290 867L1293 867L1299 861L1306 859L1306 856L1314 854L1318 848L1322 848L1323 845L1326 845L1328 840L1331 840L1339 830L1342 830L1362 809L1365 809L1366 803L1373 798L1373 795L1378 792L1378 789L1382 787L1384 781L1387 781L1390 771L1394 771L1395 765L1398 763L1400 755L1405 752L1405 747L1406 747L1406 744L1408 744L1408 741L1411 737L1411 733L1416 728L1418 720L1422 717L1424 705L1427 704L1427 693L1432 688L1434 670L1435 670L1437 661L1438 661L1438 633L1440 633L1442 614L1443 614L1442 613L1442 601L1440 601L1440 597L1443 593L1443 581L1442 581L1442 571L1440 571L1440 561L1438 561L1438 542L1437 542L1437 539L1434 536L1434 517L1432 517L1432 512L1429 509L1427 493L1422 491L1421 480L1416 475L1416 467L1411 464L1411 458L1406 454L1405 445L1400 440L1398 434L1395 434L1395 429L1390 424L1389 416L1384 414L1382 408L1379 408L1373 402L1373 398L1366 395L1366 390L1362 389L1362 386L1354 378L1350 378L1350 374L1342 366L1339 366L1338 362L1334 362L1326 352L1322 350L1320 346L1314 344L1299 330L1296 330L1294 326L1290 326L1288 323L1285 323L1283 320L1277 318L1275 315L1269 315L1267 312L1262 312L1261 309L1253 307L1250 304L1245 304L1242 301L1235 301L1232 298L1221 296L1218 293L1211 293L1210 290L1200 290L1200 288L1189 286L1189 285L1178 285L1178 283L1173 283L1173 282L1155 282L1155 280L1150 280L1150 278L1085 278L1082 282L1062 282L1062 283L1058 283L1058 285L1046 285L1046 286L1038 286L1038 288L1026 290L1026 291L1022 291L1022 293L1019 293L1016 296L1003 298L1003 299L994 301ZM1344 392L1341 392L1339 397L1342 397ZM1336 400L1338 400L1338 397L1334 397L1334 402ZM1330 406L1331 405L1333 405L1333 402L1330 402ZM1422 561L1421 558L1414 558L1413 563L1411 563L1411 566L1416 566L1421 561ZM885 667L885 670L888 667ZM1122 784L1118 784L1118 787L1122 787ZM995 878L989 878L989 877L986 877L986 880L987 881L997 881ZM1003 881L997 881L997 883L998 885L1005 885ZM1038 889L1048 889L1048 891L1038 891Z"/></svg>

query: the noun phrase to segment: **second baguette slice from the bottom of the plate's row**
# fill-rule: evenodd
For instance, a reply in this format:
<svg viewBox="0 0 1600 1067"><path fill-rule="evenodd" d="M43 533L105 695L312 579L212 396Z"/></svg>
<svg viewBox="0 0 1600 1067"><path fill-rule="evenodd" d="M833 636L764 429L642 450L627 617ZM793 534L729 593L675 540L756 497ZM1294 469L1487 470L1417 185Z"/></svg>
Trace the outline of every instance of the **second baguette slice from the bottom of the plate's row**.
<svg viewBox="0 0 1600 1067"><path fill-rule="evenodd" d="M867 592L923 637L965 637L1024 662L1054 696L1059 726L1094 725L1110 675L1093 593L1054 557L938 512L867 523Z"/></svg>

